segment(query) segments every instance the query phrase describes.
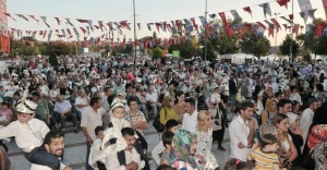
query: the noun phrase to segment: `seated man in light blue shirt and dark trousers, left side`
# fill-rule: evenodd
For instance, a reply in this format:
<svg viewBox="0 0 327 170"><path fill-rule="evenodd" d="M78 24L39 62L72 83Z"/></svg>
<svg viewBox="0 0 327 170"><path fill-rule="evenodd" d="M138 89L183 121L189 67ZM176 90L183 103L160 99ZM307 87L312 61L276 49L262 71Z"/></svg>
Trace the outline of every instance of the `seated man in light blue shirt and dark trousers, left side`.
<svg viewBox="0 0 327 170"><path fill-rule="evenodd" d="M72 113L72 105L69 100L63 100L61 95L57 95L57 102L55 104L56 113L60 117L61 130L65 131L65 120L71 118L73 120L74 132L78 133L77 130L77 118L75 113Z"/></svg>

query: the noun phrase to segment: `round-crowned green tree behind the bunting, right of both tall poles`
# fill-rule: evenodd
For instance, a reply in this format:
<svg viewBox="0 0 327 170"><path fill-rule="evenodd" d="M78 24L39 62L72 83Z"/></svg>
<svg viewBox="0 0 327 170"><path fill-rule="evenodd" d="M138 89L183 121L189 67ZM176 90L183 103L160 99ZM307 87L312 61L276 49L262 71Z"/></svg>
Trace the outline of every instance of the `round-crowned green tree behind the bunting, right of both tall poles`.
<svg viewBox="0 0 327 170"><path fill-rule="evenodd" d="M244 33L240 39L240 48L244 53L252 53L258 59L262 56L267 56L270 48L270 42L265 36L257 36L255 33Z"/></svg>

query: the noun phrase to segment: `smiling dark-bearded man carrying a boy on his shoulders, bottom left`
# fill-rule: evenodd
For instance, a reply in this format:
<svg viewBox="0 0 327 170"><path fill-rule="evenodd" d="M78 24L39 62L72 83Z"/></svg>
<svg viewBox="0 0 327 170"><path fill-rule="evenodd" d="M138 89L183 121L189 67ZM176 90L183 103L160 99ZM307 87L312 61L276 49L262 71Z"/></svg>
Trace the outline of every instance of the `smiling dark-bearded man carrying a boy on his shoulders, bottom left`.
<svg viewBox="0 0 327 170"><path fill-rule="evenodd" d="M63 155L64 149L64 133L60 131L50 131L44 142L44 148L46 153L52 154L55 157L60 159ZM51 168L40 165L32 165L31 170L51 170ZM60 165L60 170L72 170L70 167Z"/></svg>

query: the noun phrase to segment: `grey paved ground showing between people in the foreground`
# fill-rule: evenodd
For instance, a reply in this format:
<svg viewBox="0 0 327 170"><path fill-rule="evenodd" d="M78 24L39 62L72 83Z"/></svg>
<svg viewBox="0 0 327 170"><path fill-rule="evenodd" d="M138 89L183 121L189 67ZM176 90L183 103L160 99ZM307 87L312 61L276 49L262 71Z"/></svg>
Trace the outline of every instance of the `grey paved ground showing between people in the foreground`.
<svg viewBox="0 0 327 170"><path fill-rule="evenodd" d="M149 122L152 124L152 122ZM227 149L226 151L217 150L217 144L213 146L213 153L217 157L219 165L222 167L225 162L229 159L230 148L229 148L229 138L228 138L228 129L225 133L225 142L223 147ZM157 145L159 142L159 135L156 130L150 126L145 131L145 138L148 142L149 151ZM63 156L64 165L72 167L75 170L84 170L85 169L85 158L86 158L86 145L84 142L84 135L80 131L80 133L75 134L71 131L68 131L65 135L65 149ZM31 167L31 163L25 159L23 151L17 148L15 142L11 142L8 144L9 147L9 156L12 163L11 170L27 170ZM150 155L150 154L149 154ZM155 170L157 165L150 160L150 168Z"/></svg>

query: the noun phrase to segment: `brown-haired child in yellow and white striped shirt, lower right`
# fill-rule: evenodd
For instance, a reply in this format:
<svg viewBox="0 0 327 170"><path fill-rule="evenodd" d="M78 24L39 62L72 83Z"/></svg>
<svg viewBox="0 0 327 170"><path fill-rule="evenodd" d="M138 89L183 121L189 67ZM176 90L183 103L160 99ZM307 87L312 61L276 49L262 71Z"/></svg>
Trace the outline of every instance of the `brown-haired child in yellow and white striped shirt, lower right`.
<svg viewBox="0 0 327 170"><path fill-rule="evenodd" d="M265 134L259 138L259 147L253 146L247 160L255 161L256 169L279 170L277 150L277 137Z"/></svg>

